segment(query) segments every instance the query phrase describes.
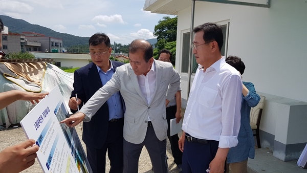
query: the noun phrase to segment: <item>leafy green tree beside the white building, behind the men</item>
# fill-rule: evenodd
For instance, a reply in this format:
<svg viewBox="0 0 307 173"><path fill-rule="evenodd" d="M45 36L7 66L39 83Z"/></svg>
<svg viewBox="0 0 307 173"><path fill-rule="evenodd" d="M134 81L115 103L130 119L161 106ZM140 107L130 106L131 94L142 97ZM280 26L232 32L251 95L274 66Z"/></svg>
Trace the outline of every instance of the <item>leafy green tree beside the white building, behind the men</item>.
<svg viewBox="0 0 307 173"><path fill-rule="evenodd" d="M156 48L153 50L153 57L158 59L159 51L168 49L172 53L171 63L176 60L176 39L177 39L177 20L178 17L170 18L164 16L155 26L153 35L157 36Z"/></svg>

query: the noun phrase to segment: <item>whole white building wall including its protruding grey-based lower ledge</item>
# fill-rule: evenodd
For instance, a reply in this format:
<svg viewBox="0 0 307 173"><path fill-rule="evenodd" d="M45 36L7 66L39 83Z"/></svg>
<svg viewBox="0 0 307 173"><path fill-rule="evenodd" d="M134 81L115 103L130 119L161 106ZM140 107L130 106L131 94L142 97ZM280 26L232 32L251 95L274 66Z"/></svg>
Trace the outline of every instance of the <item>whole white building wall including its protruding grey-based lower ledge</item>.
<svg viewBox="0 0 307 173"><path fill-rule="evenodd" d="M242 58L244 81L251 81L266 104L260 123L262 147L283 160L297 159L307 142L307 3L272 0L270 8L195 3L194 27L228 20L228 55ZM191 7L178 12L176 69L181 72L182 35L190 31ZM181 73L187 99L187 73ZM193 76L191 77L191 82Z"/></svg>

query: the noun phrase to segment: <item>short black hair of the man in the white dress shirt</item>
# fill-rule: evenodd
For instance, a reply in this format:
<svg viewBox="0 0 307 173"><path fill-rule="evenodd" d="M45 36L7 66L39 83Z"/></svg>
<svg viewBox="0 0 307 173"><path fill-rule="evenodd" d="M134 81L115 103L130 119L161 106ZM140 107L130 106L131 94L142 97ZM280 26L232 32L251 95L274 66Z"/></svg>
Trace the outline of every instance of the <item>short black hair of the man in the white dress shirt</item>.
<svg viewBox="0 0 307 173"><path fill-rule="evenodd" d="M203 39L205 42L216 41L218 45L218 50L222 50L224 38L220 25L215 23L205 23L193 29L194 33L199 31L204 31Z"/></svg>

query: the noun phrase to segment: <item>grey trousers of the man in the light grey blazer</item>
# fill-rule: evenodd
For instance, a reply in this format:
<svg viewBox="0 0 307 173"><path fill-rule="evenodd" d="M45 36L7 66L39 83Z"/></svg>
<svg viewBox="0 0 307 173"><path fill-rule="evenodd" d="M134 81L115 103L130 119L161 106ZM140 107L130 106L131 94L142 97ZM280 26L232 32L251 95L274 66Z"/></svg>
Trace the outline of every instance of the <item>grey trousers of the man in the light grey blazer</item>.
<svg viewBox="0 0 307 173"><path fill-rule="evenodd" d="M166 139L160 141L152 126L147 127L145 139L140 144L134 144L124 139L124 173L137 173L139 158L145 145L152 164L153 171L166 173Z"/></svg>

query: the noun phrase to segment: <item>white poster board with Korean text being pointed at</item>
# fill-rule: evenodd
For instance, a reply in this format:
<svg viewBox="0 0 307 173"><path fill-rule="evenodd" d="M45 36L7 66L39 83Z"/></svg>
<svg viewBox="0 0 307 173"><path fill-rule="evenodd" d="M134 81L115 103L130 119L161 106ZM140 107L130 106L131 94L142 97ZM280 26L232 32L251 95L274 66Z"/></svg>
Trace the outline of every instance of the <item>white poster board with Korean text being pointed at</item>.
<svg viewBox="0 0 307 173"><path fill-rule="evenodd" d="M56 86L20 124L39 146L37 159L44 172L93 172L76 129L59 123L66 117L68 109Z"/></svg>

